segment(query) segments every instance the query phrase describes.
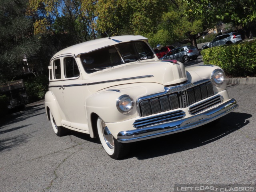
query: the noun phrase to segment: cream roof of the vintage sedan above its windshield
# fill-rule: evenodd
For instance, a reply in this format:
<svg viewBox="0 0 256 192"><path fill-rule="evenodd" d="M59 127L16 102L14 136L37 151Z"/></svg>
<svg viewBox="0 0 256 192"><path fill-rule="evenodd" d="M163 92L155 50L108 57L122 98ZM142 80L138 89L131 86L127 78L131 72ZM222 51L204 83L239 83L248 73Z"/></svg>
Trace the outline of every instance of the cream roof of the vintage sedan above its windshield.
<svg viewBox="0 0 256 192"><path fill-rule="evenodd" d="M140 35L136 35L136 36L125 35L125 36L113 36L110 38L106 37L106 38L90 40L90 41L79 43L79 44L70 46L68 48L65 48L63 50L60 50L59 52L54 54L52 58L63 55L63 54L73 54L76 57L80 54L91 52L93 50L97 50L107 46L112 46L121 42L130 42L134 40L146 40L146 39L148 38Z"/></svg>

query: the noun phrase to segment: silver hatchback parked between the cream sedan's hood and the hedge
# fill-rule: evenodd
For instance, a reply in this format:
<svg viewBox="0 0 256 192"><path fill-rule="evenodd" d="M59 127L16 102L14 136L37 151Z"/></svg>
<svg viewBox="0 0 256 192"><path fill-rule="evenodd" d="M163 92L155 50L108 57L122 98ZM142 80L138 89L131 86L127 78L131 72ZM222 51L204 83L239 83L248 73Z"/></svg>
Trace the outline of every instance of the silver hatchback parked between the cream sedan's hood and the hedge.
<svg viewBox="0 0 256 192"><path fill-rule="evenodd" d="M178 61L188 62L190 59L197 59L198 56L198 49L193 45L189 45L170 50L165 56L160 58L160 60L174 59Z"/></svg>

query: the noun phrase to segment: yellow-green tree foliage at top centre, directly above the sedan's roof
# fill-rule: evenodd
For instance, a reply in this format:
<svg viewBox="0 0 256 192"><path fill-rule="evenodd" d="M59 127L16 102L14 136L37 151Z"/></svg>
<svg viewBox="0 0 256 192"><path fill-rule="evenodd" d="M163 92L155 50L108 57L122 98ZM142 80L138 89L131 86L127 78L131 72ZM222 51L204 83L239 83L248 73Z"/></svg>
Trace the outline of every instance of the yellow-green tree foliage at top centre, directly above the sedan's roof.
<svg viewBox="0 0 256 192"><path fill-rule="evenodd" d="M168 10L164 0L98 0L97 30L103 36L156 33L162 13ZM161 10L161 11L159 11Z"/></svg>

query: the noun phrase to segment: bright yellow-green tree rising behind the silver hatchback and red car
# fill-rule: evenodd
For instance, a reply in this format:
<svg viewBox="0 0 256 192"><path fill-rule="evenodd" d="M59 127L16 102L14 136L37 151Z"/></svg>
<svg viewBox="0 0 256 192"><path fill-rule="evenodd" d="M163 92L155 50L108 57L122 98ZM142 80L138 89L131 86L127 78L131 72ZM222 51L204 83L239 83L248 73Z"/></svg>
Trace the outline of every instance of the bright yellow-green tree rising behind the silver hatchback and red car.
<svg viewBox="0 0 256 192"><path fill-rule="evenodd" d="M162 18L158 22L158 32L153 35L150 42L155 43L156 39L161 39L165 44L178 41L197 47L196 39L202 36L202 32L212 28L216 20L210 21L206 19L207 15L191 14L191 12L191 8L186 2L172 1L168 11L162 14ZM162 34L161 37L160 34Z"/></svg>

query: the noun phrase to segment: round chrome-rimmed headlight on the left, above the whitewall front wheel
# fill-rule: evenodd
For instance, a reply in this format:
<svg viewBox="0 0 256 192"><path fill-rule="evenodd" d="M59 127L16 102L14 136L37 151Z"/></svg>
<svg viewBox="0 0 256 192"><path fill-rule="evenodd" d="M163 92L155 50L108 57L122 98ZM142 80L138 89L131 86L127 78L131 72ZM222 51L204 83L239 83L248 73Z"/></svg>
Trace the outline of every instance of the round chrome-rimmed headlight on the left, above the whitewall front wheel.
<svg viewBox="0 0 256 192"><path fill-rule="evenodd" d="M116 101L116 107L121 113L128 113L132 110L134 101L128 95L120 96Z"/></svg>

